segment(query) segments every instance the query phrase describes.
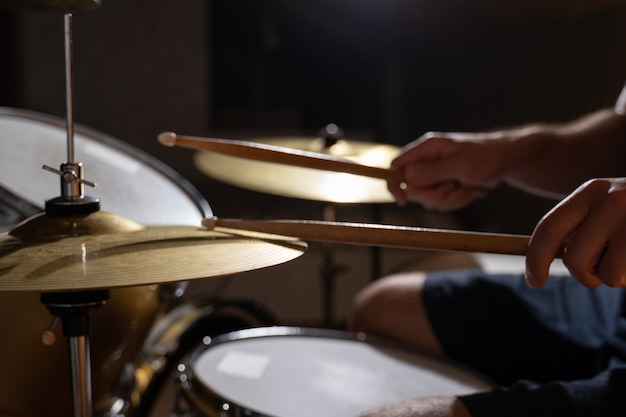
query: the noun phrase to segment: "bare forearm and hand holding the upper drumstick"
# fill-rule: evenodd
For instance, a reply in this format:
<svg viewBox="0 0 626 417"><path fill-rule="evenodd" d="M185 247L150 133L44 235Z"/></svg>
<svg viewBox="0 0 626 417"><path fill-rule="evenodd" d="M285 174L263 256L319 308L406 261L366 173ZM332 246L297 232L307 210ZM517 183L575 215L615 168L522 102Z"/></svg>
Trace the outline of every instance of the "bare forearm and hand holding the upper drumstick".
<svg viewBox="0 0 626 417"><path fill-rule="evenodd" d="M626 93L622 98L626 106ZM389 183L389 190L401 205L454 210L503 182L562 197L587 179L626 175L626 110L618 107L565 124L427 133L394 160L405 182Z"/></svg>

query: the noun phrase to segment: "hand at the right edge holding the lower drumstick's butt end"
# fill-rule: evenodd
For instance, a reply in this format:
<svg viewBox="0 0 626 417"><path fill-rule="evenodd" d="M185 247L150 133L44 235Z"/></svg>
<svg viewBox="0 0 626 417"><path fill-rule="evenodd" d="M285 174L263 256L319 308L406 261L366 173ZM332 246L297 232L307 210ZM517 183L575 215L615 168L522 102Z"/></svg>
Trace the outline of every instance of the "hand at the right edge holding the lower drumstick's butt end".
<svg viewBox="0 0 626 417"><path fill-rule="evenodd" d="M544 216L526 255L526 279L542 286L563 248L563 263L586 287L626 286L626 178L581 185Z"/></svg>

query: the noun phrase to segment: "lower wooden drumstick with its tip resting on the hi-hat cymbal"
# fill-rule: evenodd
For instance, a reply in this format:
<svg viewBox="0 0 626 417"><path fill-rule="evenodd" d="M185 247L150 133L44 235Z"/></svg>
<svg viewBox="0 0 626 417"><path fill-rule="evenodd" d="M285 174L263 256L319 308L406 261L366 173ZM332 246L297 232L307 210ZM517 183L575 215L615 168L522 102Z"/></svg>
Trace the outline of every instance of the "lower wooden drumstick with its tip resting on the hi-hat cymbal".
<svg viewBox="0 0 626 417"><path fill-rule="evenodd" d="M213 229L248 230L303 240L386 246L409 249L525 255L529 236L466 232L421 227L311 220L243 220L205 218L202 224Z"/></svg>

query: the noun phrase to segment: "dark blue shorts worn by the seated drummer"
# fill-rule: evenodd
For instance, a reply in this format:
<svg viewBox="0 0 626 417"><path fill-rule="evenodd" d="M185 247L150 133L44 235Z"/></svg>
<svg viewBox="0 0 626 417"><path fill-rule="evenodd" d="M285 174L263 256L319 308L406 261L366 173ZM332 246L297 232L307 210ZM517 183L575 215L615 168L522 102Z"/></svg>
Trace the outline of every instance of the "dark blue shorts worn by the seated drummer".
<svg viewBox="0 0 626 417"><path fill-rule="evenodd" d="M626 289L589 289L570 277L533 289L521 274L445 271L429 274L424 303L446 354L502 385L465 400L473 417L538 417L548 406L590 415L615 391L608 381L624 384L612 407L626 408ZM547 401L555 383L561 400ZM493 408L515 401L511 409Z"/></svg>

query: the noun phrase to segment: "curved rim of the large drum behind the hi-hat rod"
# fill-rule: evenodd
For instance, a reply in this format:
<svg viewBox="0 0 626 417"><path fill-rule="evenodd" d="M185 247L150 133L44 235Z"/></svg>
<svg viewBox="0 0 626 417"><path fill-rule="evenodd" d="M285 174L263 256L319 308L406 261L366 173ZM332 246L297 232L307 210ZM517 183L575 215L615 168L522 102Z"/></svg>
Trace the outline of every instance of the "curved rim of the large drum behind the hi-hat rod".
<svg viewBox="0 0 626 417"><path fill-rule="evenodd" d="M54 115L33 110L4 106L0 106L0 117L1 116L32 120L61 129L65 129L66 123L64 119ZM93 129L85 125L76 123L74 124L74 131L76 134L80 134L101 141L103 144L110 146L113 149L119 150L127 155L132 156L133 158L138 159L139 162L142 162L145 165L151 167L156 172L163 175L172 183L177 185L187 195L189 200L193 201L194 205L202 216L207 217L213 215L211 206L209 205L209 202L204 198L202 193L189 180L183 177L178 171L168 166L165 162L122 139L115 138L114 136L99 131L97 129Z"/></svg>

